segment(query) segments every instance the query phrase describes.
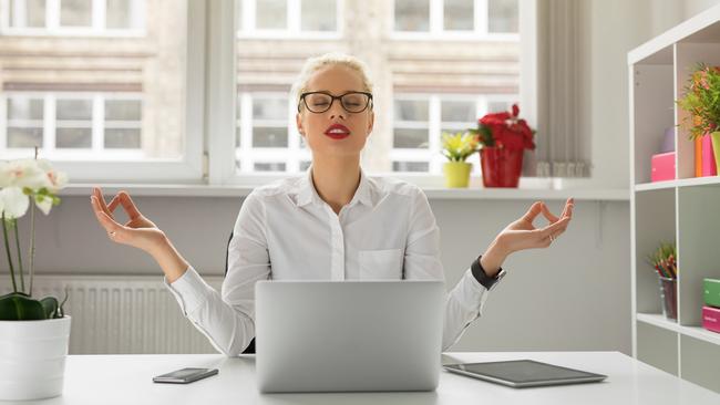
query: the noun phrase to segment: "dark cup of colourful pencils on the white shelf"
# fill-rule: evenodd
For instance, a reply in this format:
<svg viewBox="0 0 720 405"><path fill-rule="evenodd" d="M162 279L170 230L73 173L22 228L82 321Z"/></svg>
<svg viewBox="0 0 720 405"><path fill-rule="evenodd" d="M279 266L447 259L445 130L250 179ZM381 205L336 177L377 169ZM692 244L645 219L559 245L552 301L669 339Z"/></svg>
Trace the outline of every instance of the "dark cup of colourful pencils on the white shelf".
<svg viewBox="0 0 720 405"><path fill-rule="evenodd" d="M671 321L678 319L678 253L675 243L661 242L660 246L648 256L648 263L657 271L660 281L660 301L665 318Z"/></svg>

